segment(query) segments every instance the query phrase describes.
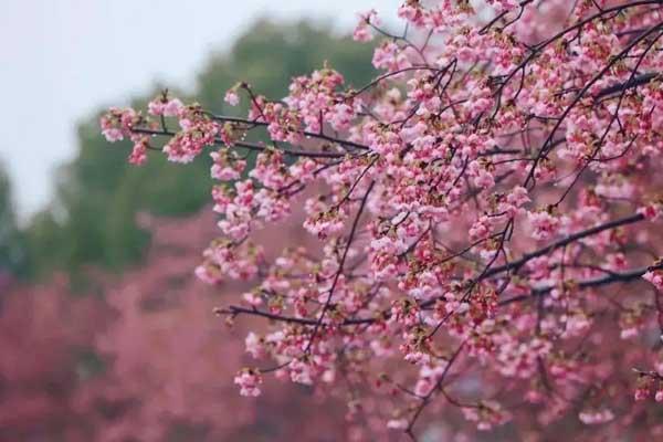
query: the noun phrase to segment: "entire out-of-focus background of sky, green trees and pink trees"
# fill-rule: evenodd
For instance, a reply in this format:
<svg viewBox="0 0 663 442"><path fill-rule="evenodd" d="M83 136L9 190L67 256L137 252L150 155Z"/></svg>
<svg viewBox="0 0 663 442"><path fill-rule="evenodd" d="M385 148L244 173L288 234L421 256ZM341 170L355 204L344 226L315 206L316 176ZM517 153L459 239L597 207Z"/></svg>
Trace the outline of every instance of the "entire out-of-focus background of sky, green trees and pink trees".
<svg viewBox="0 0 663 442"><path fill-rule="evenodd" d="M228 332L212 308L245 287L192 277L215 235L209 161L130 167L130 146L108 145L98 117L165 87L229 113L238 81L282 97L325 60L361 85L371 48L346 35L357 12L379 7L389 23L398 3L3 1L0 441L346 434L344 402L306 388L276 381L257 401L239 397L248 325ZM282 241L298 241L288 229Z"/></svg>

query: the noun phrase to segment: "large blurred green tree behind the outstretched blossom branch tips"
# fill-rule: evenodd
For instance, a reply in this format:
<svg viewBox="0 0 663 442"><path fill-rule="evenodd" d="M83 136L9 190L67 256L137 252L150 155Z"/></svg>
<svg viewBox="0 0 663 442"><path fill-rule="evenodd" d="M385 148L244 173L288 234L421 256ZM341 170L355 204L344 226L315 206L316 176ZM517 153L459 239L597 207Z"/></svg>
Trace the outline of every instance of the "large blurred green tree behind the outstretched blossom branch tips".
<svg viewBox="0 0 663 442"><path fill-rule="evenodd" d="M261 20L228 53L210 57L192 98L213 112L245 113L246 107L230 109L223 103L225 91L238 81L246 81L260 94L282 97L293 76L325 61L343 72L349 84L361 85L373 75L370 65L359 63L370 57L370 51L305 22L283 25ZM133 105L144 107L160 88L155 86L152 94L137 97ZM119 271L137 262L149 243L149 233L136 223L139 212L186 215L209 201L212 182L207 156L181 167L150 155L147 165L130 166L129 143L106 143L98 116L80 124L78 154L60 170L56 201L38 213L25 231L31 276L55 269L75 276L85 265Z"/></svg>

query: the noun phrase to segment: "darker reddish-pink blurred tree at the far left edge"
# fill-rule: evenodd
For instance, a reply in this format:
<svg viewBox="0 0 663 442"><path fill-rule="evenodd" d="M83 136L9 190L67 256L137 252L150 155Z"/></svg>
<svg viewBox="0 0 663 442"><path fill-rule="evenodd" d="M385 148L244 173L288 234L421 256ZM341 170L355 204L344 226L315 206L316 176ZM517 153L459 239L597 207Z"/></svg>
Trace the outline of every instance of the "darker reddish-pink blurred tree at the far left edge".
<svg viewBox="0 0 663 442"><path fill-rule="evenodd" d="M76 388L92 372L94 335L108 308L72 297L69 284L10 286L0 295L0 440L88 440L75 410ZM83 420L82 420L83 419Z"/></svg>

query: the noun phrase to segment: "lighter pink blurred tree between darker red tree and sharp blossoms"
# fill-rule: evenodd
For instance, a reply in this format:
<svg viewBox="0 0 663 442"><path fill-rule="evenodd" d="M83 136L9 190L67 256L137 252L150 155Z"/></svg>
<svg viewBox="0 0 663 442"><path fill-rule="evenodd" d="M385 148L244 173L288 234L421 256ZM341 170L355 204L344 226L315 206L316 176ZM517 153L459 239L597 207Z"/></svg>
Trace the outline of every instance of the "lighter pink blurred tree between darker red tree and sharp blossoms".
<svg viewBox="0 0 663 442"><path fill-rule="evenodd" d="M152 231L151 250L145 265L109 288L115 319L96 338L107 370L77 394L77 410L95 422L95 440L346 439L335 424L343 409L327 400L319 412L309 389L276 385L259 402L236 396L232 375L248 362L240 339L246 327L228 328L213 311L246 285L212 288L193 276L214 229L209 212L168 221L143 215L140 222ZM274 246L288 240L280 238ZM228 332L234 338L224 338ZM294 419L306 424L293 427Z"/></svg>

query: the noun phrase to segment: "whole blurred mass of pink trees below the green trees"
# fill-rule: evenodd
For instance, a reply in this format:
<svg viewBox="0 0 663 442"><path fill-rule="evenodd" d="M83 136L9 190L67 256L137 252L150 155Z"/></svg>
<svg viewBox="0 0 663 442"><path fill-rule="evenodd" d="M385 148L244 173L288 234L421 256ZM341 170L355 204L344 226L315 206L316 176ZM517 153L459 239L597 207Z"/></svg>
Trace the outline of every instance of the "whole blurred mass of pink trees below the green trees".
<svg viewBox="0 0 663 442"><path fill-rule="evenodd" d="M212 288L192 273L212 217L140 221L154 235L145 264L119 281L92 275L105 301L72 295L63 277L8 284L1 440L366 440L361 427L336 424L341 402L309 388L275 382L257 402L238 397L232 375L249 361L239 338L248 326L229 327L214 307L248 286ZM287 241L280 229L274 246ZM290 424L299 419L306 425Z"/></svg>

